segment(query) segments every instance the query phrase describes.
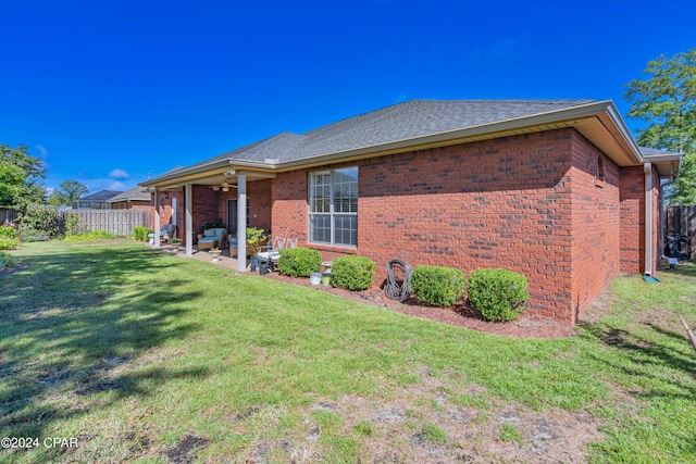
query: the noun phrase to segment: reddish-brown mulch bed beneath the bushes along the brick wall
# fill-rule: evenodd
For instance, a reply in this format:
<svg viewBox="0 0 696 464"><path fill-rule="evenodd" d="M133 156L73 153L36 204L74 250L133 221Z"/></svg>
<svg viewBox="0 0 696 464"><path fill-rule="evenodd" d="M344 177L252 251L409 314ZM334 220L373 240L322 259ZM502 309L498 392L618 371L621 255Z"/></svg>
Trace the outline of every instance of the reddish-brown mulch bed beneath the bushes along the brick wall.
<svg viewBox="0 0 696 464"><path fill-rule="evenodd" d="M517 321L508 323L487 322L483 319L481 313L469 306L465 302L455 304L449 309L423 306L418 304L413 298L403 303L390 300L384 294L384 291L378 288L365 291L350 291L324 285L315 286L310 284L309 278L294 278L278 274L266 274L265 278L314 288L319 291L337 294L339 297L372 304L397 313L408 314L410 316L437 321L457 327L467 327L473 330L487 331L501 336L519 338L563 338L575 335L575 329L572 326L564 325L547 317L529 314L522 314Z"/></svg>

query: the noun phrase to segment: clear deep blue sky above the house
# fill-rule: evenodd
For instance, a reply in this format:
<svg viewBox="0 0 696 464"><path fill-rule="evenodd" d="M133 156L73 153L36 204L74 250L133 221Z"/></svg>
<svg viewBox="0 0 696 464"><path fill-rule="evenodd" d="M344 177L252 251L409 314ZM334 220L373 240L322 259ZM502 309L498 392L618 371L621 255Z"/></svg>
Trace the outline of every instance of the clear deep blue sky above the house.
<svg viewBox="0 0 696 464"><path fill-rule="evenodd" d="M693 0L0 0L0 143L89 192L409 99L611 99L625 118L625 84L696 47Z"/></svg>

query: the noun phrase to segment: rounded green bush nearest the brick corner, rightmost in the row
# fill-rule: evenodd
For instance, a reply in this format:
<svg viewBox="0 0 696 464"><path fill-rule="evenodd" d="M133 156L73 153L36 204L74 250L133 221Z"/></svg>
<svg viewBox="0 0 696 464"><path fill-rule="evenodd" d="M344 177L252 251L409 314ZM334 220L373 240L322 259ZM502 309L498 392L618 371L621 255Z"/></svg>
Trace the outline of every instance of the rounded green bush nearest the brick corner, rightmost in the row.
<svg viewBox="0 0 696 464"><path fill-rule="evenodd" d="M467 293L486 321L512 321L525 310L530 298L526 277L512 271L476 269L469 275Z"/></svg>

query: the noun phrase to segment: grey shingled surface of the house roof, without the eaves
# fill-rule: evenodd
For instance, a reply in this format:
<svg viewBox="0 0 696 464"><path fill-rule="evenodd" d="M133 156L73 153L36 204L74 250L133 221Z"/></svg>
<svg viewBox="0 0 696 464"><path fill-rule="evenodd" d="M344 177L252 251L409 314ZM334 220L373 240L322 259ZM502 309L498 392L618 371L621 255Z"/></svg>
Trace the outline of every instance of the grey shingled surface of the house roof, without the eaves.
<svg viewBox="0 0 696 464"><path fill-rule="evenodd" d="M566 110L594 100L410 100L304 134L282 133L186 166L224 160L279 162L330 154Z"/></svg>

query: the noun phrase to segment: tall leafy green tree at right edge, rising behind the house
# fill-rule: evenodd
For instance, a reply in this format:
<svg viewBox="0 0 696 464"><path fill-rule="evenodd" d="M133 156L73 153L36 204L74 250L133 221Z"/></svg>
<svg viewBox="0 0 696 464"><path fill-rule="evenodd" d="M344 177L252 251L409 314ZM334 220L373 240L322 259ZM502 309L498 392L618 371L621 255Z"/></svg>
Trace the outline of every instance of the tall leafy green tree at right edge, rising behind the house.
<svg viewBox="0 0 696 464"><path fill-rule="evenodd" d="M696 48L660 55L643 71L645 79L627 84L629 116L648 123L637 130L638 145L684 153L680 176L668 200L696 204Z"/></svg>

